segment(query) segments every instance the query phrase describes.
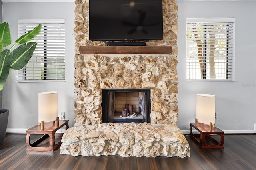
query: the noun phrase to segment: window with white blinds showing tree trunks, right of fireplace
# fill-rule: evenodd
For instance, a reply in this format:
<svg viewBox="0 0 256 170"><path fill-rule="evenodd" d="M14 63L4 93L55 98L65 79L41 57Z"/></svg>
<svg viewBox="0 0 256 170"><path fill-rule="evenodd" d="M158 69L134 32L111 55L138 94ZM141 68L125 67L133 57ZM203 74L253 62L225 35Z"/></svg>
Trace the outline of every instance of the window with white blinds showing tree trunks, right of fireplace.
<svg viewBox="0 0 256 170"><path fill-rule="evenodd" d="M187 18L187 80L234 81L234 21Z"/></svg>

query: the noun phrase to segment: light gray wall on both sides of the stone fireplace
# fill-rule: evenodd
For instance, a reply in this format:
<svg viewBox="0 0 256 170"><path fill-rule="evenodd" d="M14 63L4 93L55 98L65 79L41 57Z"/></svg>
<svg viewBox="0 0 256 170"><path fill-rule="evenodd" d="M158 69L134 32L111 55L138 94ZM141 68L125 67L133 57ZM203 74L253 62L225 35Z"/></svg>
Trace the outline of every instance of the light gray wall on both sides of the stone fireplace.
<svg viewBox="0 0 256 170"><path fill-rule="evenodd" d="M187 130L196 117L196 94L216 95L218 127L225 132L255 132L256 123L256 1L177 1L178 4L178 127ZM66 19L66 82L17 83L16 71L4 85L3 107L10 109L9 132L36 125L38 93L59 92L59 114L66 111L74 125L74 8L70 3L4 3L3 21L17 38L18 19ZM44 11L47 9L46 11ZM31 15L31 16L30 16ZM236 18L236 82L186 81L186 18ZM19 131L20 130L20 131Z"/></svg>

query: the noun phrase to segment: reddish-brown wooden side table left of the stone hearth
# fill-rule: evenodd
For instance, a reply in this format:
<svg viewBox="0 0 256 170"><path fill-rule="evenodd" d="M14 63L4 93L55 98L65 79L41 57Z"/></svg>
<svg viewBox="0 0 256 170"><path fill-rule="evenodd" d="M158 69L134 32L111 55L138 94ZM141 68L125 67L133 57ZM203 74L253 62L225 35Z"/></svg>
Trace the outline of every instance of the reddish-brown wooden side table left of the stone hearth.
<svg viewBox="0 0 256 170"><path fill-rule="evenodd" d="M32 128L29 128L26 130L27 136L26 136L26 144L27 144L27 151L46 151L46 152L53 152L56 148L60 146L62 143L61 141L55 144L55 133L60 128L64 127L66 125L66 130L68 127L68 120L60 120L59 125L55 121L48 122L44 124L44 130L41 130L41 127L36 125ZM34 143L30 142L30 135L31 134L44 134L41 138L36 140ZM59 133L58 135L63 136L63 133ZM48 147L36 147L38 144L43 142L46 138L50 136L49 146Z"/></svg>

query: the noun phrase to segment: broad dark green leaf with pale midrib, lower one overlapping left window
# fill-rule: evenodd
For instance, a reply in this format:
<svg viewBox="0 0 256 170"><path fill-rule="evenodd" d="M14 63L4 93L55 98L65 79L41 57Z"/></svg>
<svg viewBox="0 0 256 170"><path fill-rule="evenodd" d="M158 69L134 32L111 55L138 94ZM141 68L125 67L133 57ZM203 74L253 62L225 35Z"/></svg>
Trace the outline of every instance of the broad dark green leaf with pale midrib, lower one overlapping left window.
<svg viewBox="0 0 256 170"><path fill-rule="evenodd" d="M30 60L36 49L36 42L20 45L12 51L13 56L7 58L7 63L14 70L22 69Z"/></svg>

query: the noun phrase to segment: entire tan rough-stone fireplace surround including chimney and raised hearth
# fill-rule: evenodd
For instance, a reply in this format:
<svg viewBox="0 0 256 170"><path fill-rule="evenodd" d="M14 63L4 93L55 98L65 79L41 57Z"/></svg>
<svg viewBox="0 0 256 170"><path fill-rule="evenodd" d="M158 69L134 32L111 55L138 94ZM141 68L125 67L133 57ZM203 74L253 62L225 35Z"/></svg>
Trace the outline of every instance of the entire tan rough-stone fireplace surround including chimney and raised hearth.
<svg viewBox="0 0 256 170"><path fill-rule="evenodd" d="M89 0L76 0L74 33L74 127L62 137L61 154L73 156L190 156L178 121L177 5L163 0L164 39L147 46L172 46L170 54L83 54L88 40ZM151 89L151 123L102 123L102 89Z"/></svg>

